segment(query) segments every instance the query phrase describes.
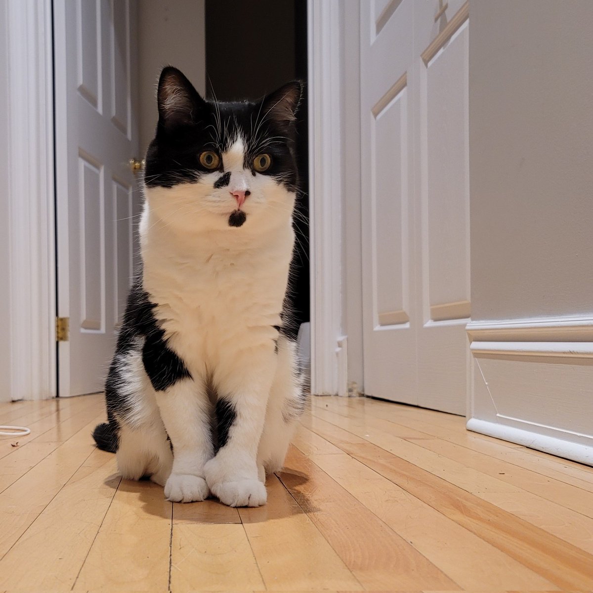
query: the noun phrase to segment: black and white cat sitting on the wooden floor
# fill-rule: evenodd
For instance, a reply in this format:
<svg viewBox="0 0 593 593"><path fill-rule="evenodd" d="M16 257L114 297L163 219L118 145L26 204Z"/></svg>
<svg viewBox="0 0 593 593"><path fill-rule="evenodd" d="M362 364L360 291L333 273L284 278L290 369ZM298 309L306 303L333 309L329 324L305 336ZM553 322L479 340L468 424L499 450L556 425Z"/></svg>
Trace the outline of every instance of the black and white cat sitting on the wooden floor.
<svg viewBox="0 0 593 593"><path fill-rule="evenodd" d="M301 84L211 103L165 68L148 148L142 272L106 381L100 448L168 500L266 502L305 407L287 286Z"/></svg>

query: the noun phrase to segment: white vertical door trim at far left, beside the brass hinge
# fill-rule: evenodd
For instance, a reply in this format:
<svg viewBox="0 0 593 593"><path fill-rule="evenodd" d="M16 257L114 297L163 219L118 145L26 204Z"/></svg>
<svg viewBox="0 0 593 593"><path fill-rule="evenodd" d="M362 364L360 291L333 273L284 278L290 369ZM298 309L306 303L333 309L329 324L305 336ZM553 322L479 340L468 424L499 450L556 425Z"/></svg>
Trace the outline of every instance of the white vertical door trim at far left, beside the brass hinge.
<svg viewBox="0 0 593 593"><path fill-rule="evenodd" d="M12 400L56 396L56 260L50 0L7 4Z"/></svg>

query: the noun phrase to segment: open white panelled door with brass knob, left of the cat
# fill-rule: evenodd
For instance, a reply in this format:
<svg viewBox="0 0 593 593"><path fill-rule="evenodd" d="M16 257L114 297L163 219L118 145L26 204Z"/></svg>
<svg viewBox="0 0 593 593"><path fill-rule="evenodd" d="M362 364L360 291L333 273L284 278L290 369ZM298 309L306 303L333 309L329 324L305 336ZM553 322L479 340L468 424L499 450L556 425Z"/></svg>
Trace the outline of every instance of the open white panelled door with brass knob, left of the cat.
<svg viewBox="0 0 593 593"><path fill-rule="evenodd" d="M103 389L132 278L134 0L54 0L60 396Z"/></svg>

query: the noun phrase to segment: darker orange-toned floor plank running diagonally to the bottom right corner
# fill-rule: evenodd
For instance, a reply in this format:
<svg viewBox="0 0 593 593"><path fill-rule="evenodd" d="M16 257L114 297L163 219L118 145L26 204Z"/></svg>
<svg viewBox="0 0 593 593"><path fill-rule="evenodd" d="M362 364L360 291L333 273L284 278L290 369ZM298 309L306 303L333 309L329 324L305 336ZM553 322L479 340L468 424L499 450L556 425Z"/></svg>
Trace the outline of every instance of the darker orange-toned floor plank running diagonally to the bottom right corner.
<svg viewBox="0 0 593 593"><path fill-rule="evenodd" d="M593 587L591 554L377 445L348 443L344 437L338 445L343 451L556 586L581 590ZM329 440L337 444L331 436Z"/></svg>

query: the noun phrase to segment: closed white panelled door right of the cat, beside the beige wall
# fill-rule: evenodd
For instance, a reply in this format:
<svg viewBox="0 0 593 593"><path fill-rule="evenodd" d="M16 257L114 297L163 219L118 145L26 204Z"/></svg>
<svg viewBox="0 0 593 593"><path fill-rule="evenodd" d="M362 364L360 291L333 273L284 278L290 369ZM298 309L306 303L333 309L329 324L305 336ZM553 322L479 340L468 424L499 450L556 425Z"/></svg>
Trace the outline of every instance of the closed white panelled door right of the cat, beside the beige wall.
<svg viewBox="0 0 593 593"><path fill-rule="evenodd" d="M365 393L465 413L468 4L361 5Z"/></svg>

